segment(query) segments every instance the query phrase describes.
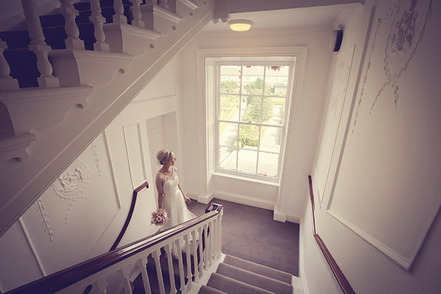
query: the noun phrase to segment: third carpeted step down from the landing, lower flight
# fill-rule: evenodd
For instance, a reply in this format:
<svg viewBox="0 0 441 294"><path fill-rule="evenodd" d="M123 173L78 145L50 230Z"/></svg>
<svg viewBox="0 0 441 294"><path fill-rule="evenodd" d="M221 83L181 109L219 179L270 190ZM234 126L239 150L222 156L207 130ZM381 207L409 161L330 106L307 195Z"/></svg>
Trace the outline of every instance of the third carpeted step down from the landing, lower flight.
<svg viewBox="0 0 441 294"><path fill-rule="evenodd" d="M255 294L271 294L274 292L250 285L247 283L240 282L240 280L235 280L233 278L225 277L219 273L211 273L208 279L208 286L221 290L228 294L243 294L243 293L255 293Z"/></svg>

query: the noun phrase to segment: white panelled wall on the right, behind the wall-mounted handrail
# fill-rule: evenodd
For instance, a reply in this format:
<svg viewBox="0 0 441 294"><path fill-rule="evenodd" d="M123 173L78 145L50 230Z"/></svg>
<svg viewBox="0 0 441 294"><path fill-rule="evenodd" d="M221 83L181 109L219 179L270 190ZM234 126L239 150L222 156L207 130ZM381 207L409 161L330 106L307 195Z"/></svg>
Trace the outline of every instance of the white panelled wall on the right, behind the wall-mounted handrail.
<svg viewBox="0 0 441 294"><path fill-rule="evenodd" d="M415 2L418 16L410 23L400 20L412 13L411 1L378 1L371 15L373 2L344 23L341 48L355 45L354 62L331 164L321 145L312 173L317 231L356 293L440 293L441 58L434 48L440 46L441 4ZM396 38L402 32L408 35ZM331 110L326 122L335 118ZM306 209L302 275L309 293L338 293L326 262L317 258Z"/></svg>

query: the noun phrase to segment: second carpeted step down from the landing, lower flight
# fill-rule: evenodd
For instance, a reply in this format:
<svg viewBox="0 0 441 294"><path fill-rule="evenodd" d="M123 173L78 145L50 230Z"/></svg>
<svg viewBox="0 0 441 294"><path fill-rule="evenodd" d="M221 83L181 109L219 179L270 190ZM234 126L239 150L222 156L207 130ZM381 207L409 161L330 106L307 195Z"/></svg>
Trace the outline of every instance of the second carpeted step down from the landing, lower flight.
<svg viewBox="0 0 441 294"><path fill-rule="evenodd" d="M240 282L247 283L250 285L255 285L256 287L272 291L279 294L290 294L292 293L292 285L276 280L274 278L268 278L265 275L259 275L257 273L252 273L250 271L244 270L243 268L237 268L235 266L230 266L227 263L220 263L216 273L224 275L228 278L234 278Z"/></svg>

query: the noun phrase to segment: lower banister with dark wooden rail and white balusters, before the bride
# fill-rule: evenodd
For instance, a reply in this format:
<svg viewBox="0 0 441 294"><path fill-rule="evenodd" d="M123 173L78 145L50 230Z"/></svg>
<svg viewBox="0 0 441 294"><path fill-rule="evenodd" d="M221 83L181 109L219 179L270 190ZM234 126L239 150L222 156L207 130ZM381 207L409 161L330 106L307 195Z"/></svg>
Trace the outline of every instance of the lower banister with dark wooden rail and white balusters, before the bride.
<svg viewBox="0 0 441 294"><path fill-rule="evenodd" d="M151 293L151 285L156 281L149 280L149 271L156 271L156 288L159 288L160 293L166 293L163 275L165 276L167 273L165 268L161 268L161 264L164 264L161 263L161 251L166 253L169 268L169 279L166 279L166 283L171 287L171 293L176 293L178 289L181 293L186 293L191 288L192 278L197 281L201 278L203 269L212 263L213 253L206 253L206 251L211 251L210 248L213 248L211 243L219 241L216 238L218 232L213 226L215 223L213 220L216 219L216 223L220 224L223 214L222 206L215 206L215 209L196 219L191 219L169 230L156 233L89 261L48 275L28 285L11 290L9 293L83 293L88 285L95 288L94 293L120 293L121 290L124 293L132 293L131 282L139 274L142 276L145 293ZM190 242L188 242L189 239L191 239ZM179 249L175 253L173 246ZM191 248L193 249L193 276L191 275ZM221 246L217 244L214 248L220 250ZM177 256L174 256L176 253ZM183 253L186 254L186 273L184 271ZM214 255L221 256L221 252L216 252ZM179 273L176 273L176 275L179 275L179 287L175 285L173 266L176 257L179 266ZM153 265L149 266L149 258L153 258L156 270ZM107 280L115 278L120 279L121 283L119 288L111 289L110 285L112 283L107 283Z"/></svg>

